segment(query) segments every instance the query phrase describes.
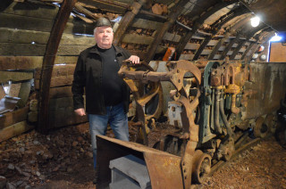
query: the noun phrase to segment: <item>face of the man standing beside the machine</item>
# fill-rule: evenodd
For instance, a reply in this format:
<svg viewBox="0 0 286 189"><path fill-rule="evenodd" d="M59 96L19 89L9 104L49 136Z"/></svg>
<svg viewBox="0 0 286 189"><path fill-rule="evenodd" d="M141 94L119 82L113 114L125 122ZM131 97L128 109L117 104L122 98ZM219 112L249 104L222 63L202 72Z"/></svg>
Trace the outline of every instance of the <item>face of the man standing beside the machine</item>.
<svg viewBox="0 0 286 189"><path fill-rule="evenodd" d="M99 48L108 49L113 44L114 31L109 26L97 27L95 38Z"/></svg>

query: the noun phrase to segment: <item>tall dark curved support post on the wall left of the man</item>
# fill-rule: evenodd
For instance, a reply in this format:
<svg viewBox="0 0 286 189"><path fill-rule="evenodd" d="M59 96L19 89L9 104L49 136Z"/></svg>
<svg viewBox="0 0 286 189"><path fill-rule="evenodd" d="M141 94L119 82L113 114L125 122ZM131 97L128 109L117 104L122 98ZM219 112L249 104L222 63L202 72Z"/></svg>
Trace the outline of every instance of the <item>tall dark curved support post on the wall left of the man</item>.
<svg viewBox="0 0 286 189"><path fill-rule="evenodd" d="M47 133L48 131L48 103L49 91L53 66L55 62L55 54L59 47L63 29L70 17L72 8L77 0L64 0L61 8L55 18L55 23L51 31L51 35L46 45L46 53L43 60L41 79L39 84L39 104L38 104L38 131Z"/></svg>

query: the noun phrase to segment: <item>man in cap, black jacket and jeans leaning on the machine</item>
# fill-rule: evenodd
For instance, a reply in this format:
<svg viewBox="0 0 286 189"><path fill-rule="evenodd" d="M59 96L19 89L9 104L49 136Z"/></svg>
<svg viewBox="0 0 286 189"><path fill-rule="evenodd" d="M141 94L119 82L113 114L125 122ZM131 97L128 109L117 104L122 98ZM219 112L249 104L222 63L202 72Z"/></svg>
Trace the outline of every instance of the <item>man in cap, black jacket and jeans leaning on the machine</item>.
<svg viewBox="0 0 286 189"><path fill-rule="evenodd" d="M105 135L110 124L114 136L129 141L128 118L129 88L118 77L122 61L139 63L139 57L131 55L121 47L113 45L114 32L110 21L99 18L94 30L97 45L80 53L71 91L75 112L86 115L84 110L84 88L86 111L93 149L94 168L97 167L97 135ZM94 183L97 182L95 179Z"/></svg>

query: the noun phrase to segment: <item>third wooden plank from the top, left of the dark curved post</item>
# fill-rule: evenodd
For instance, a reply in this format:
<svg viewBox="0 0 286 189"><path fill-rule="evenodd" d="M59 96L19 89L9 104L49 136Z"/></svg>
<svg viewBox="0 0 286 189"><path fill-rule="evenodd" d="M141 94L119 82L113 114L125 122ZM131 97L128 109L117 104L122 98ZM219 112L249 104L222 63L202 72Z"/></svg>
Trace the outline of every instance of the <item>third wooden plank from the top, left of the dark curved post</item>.
<svg viewBox="0 0 286 189"><path fill-rule="evenodd" d="M50 33L41 31L31 31L25 29L0 29L0 43L13 44L39 44L47 43Z"/></svg>

